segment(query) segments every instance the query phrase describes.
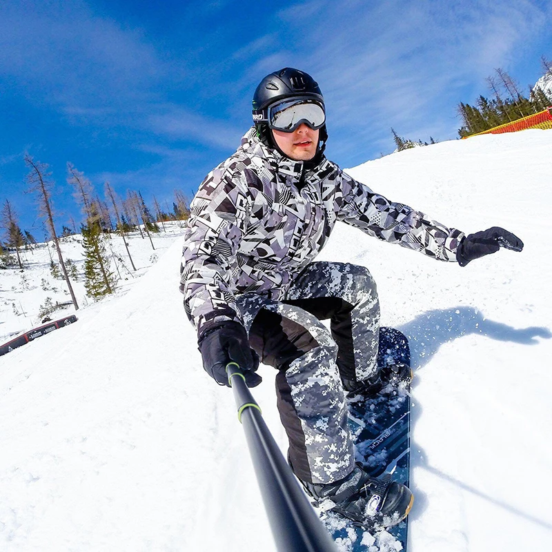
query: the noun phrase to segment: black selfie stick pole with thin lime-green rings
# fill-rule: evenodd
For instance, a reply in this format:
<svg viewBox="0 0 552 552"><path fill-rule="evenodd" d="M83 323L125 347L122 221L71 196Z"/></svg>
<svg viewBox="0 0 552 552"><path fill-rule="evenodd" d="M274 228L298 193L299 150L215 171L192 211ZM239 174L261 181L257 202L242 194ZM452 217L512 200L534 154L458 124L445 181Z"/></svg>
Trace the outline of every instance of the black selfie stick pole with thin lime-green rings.
<svg viewBox="0 0 552 552"><path fill-rule="evenodd" d="M268 430L239 366L230 362L226 372L277 549L280 552L337 552L335 542L308 503Z"/></svg>

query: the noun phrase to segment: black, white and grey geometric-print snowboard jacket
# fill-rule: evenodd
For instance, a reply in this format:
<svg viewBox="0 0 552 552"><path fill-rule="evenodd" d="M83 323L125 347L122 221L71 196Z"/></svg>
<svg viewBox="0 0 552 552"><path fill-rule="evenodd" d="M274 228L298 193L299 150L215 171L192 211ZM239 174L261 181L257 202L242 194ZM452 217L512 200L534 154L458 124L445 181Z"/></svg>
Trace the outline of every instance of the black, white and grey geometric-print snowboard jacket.
<svg viewBox="0 0 552 552"><path fill-rule="evenodd" d="M441 261L456 262L464 237L374 193L325 157L314 168L284 157L250 128L190 205L180 290L198 336L227 320L242 322L239 294L284 300L338 220Z"/></svg>

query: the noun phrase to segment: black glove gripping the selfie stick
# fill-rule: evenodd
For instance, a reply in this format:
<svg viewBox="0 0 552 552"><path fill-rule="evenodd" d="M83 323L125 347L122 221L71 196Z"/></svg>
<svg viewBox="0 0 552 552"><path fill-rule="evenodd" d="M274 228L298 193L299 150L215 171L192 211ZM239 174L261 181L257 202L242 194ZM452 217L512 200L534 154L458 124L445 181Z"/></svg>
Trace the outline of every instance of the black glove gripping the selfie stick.
<svg viewBox="0 0 552 552"><path fill-rule="evenodd" d="M246 329L239 322L223 322L207 330L199 337L199 351L205 371L219 385L230 387L226 373L228 362L235 362L242 368L248 387L262 382L262 377L255 373L259 368L259 355L249 347Z"/></svg>

